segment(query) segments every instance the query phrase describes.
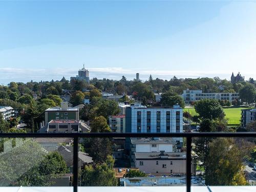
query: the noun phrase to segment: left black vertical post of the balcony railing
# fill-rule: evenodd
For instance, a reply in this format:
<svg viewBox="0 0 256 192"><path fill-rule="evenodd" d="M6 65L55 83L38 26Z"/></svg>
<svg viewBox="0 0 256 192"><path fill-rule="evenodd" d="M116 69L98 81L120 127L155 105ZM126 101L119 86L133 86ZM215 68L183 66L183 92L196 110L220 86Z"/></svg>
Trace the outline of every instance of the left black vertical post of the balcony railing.
<svg viewBox="0 0 256 192"><path fill-rule="evenodd" d="M73 187L74 192L77 192L78 186L78 136L74 136L74 156L73 156Z"/></svg>

